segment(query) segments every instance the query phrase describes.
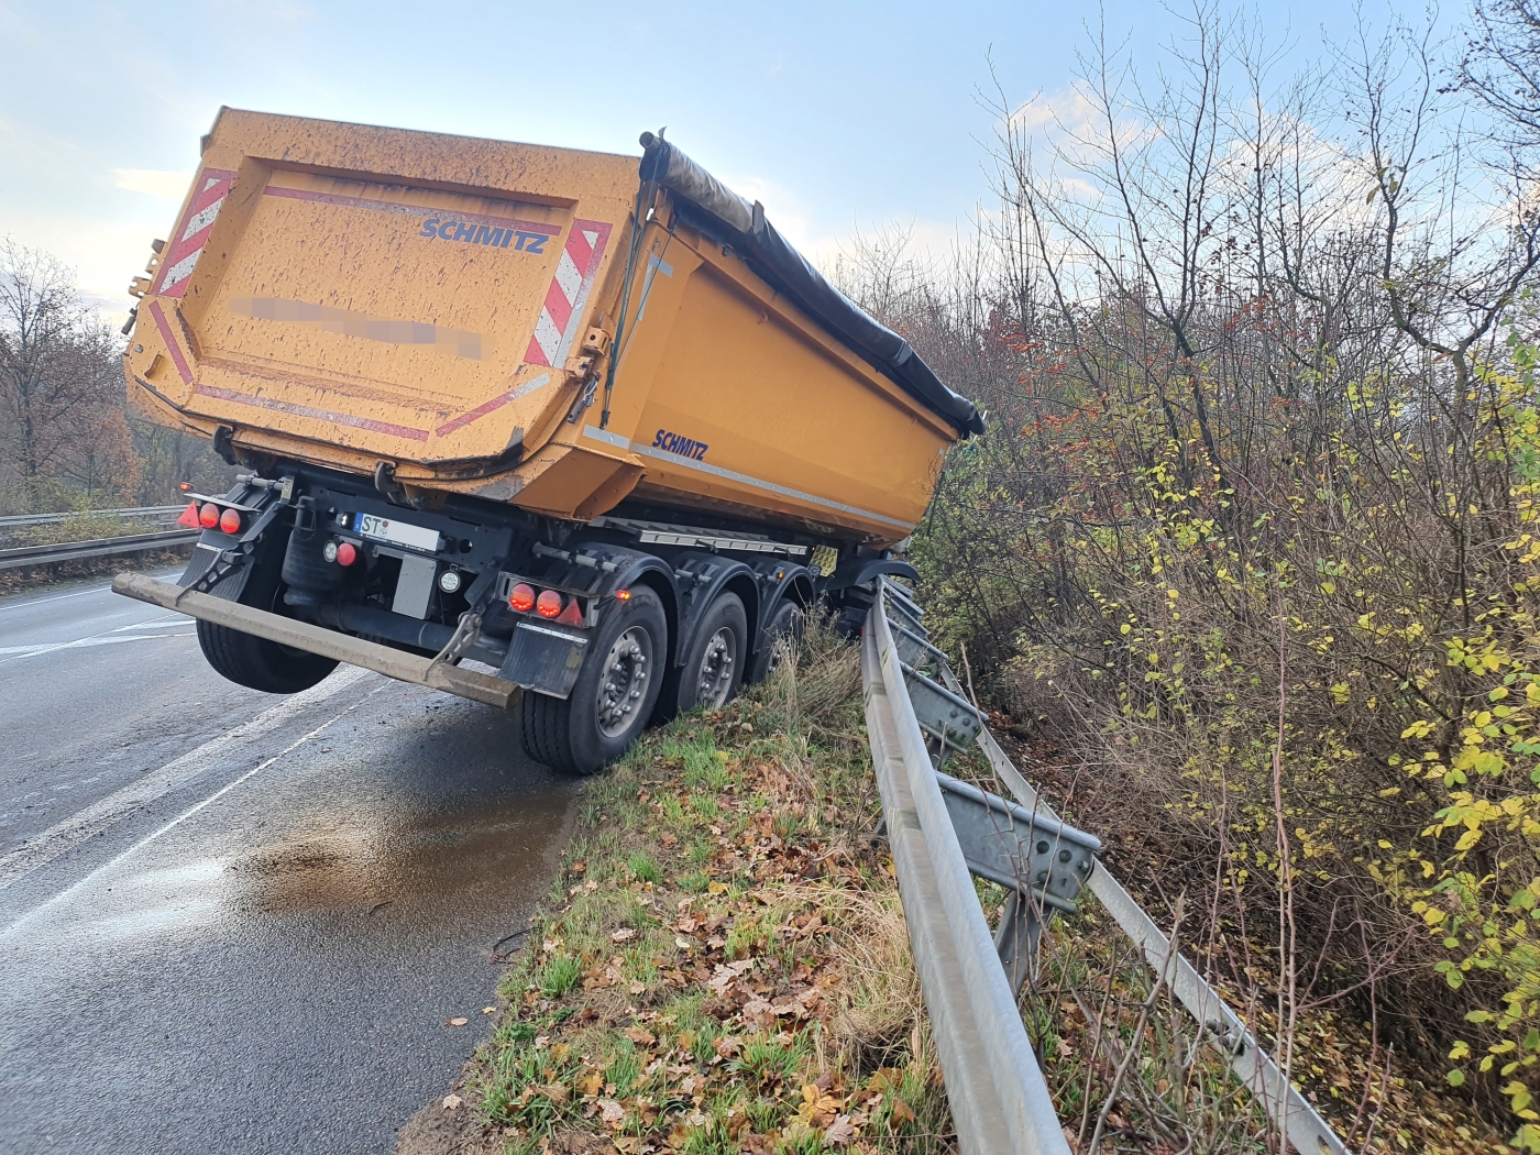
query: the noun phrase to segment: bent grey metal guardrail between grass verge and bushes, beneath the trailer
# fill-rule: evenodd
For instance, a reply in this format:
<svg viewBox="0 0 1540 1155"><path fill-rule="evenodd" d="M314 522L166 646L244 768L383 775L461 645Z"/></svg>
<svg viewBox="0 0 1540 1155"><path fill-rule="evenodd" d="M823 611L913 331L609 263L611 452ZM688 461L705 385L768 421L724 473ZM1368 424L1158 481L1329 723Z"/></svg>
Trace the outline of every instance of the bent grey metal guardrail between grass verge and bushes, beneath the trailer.
<svg viewBox="0 0 1540 1155"><path fill-rule="evenodd" d="M898 618L893 624L889 608ZM1100 850L1096 839L1064 825L1038 798L984 716L962 698L946 654L927 641L919 607L884 579L878 579L861 656L867 735L893 869L964 1153L1069 1152L1016 992L1033 964L1046 907L1072 912L1084 884L1289 1144L1301 1155L1346 1155L1337 1133L1241 1018L1090 856ZM939 773L955 750L972 742L1018 805ZM969 872L1012 889L993 938Z"/></svg>

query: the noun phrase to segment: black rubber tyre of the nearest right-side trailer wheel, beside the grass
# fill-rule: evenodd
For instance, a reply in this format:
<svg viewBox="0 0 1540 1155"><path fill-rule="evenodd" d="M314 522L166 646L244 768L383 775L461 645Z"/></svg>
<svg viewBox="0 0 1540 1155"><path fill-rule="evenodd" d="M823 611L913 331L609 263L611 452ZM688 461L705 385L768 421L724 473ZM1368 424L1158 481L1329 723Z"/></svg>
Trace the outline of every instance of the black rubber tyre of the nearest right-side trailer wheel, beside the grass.
<svg viewBox="0 0 1540 1155"><path fill-rule="evenodd" d="M611 650L633 630L642 631L651 648L641 667L645 681L636 687L641 688L641 696L624 721L614 719L605 725L601 721L601 685L608 684ZM638 644L634 634L633 644ZM658 667L667 658L668 619L664 616L664 605L645 585L631 587L631 598L616 602L605 616L567 701L525 690L519 702L525 753L564 775L591 775L607 767L645 728L662 682ZM625 661L634 671L634 658Z"/></svg>

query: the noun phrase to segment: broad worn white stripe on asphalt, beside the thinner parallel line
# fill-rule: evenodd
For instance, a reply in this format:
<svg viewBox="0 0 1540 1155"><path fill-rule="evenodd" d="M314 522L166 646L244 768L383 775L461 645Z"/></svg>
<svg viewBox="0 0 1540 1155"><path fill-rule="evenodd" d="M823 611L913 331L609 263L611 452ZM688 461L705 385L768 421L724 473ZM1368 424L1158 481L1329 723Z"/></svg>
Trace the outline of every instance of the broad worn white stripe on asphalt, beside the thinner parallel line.
<svg viewBox="0 0 1540 1155"><path fill-rule="evenodd" d="M348 688L365 675L368 675L368 670L360 670L353 665L342 667L337 673L331 675L331 678L319 685L313 685L310 690L297 693L293 698L263 710L256 718L242 722L234 730L229 730L219 738L211 738L196 750L189 750L180 758L166 762L159 770L151 770L137 781L112 792L106 798L97 799L65 821L55 822L35 838L29 838L22 845L8 850L5 855L0 855L0 890L8 889L22 878L26 878L40 865L51 862L66 850L94 838L97 833L106 830L109 825L126 818L132 812L154 802L162 795L192 781L211 768L214 759L229 750L229 747L236 742L248 742L268 730L283 725L296 715L300 715L317 702L323 702L333 695ZM351 710L353 707L348 708ZM342 715L337 716L340 718ZM331 721L336 721L336 718ZM326 722L326 725L331 725L331 722ZM290 747L290 750L293 748L294 747ZM288 752L285 750L285 753ZM263 762L262 765L268 764L270 762ZM240 781L245 781L245 778Z"/></svg>

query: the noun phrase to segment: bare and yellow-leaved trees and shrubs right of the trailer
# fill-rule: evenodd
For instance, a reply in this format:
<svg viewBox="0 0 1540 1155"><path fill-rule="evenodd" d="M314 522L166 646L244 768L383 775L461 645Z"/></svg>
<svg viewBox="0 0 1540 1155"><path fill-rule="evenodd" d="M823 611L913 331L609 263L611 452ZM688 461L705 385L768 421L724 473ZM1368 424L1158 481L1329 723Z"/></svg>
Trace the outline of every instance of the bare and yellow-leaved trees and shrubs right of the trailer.
<svg viewBox="0 0 1540 1155"><path fill-rule="evenodd" d="M838 276L989 414L912 556L1070 810L1286 1066L1346 1012L1540 1150L1540 5L1463 29L1280 74L1200 0L1146 75L1092 26L987 97L975 236Z"/></svg>

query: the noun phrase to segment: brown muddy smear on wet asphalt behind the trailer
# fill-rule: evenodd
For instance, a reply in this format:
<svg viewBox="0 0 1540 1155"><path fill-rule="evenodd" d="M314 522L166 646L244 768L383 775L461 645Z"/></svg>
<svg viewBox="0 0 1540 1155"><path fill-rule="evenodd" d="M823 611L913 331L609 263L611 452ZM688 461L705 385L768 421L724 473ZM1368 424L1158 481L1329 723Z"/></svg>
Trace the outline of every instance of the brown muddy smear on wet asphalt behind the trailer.
<svg viewBox="0 0 1540 1155"><path fill-rule="evenodd" d="M476 798L462 808L313 818L306 830L226 867L228 902L291 915L400 915L457 906L471 893L545 872L565 833L568 792Z"/></svg>

